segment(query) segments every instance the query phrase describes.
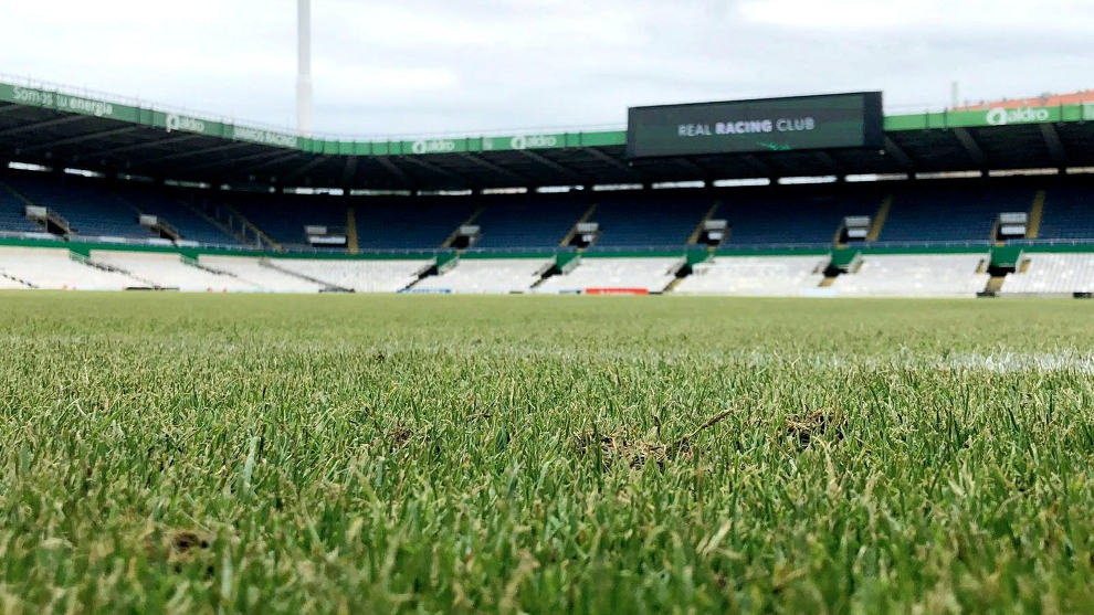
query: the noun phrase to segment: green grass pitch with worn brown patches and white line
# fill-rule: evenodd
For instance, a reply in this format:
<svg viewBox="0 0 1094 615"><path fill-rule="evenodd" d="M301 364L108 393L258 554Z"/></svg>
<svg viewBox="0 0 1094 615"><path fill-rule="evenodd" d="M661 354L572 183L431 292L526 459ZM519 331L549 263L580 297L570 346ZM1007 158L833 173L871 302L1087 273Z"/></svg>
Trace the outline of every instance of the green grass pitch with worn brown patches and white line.
<svg viewBox="0 0 1094 615"><path fill-rule="evenodd" d="M0 611L1094 609L1094 306L0 295Z"/></svg>

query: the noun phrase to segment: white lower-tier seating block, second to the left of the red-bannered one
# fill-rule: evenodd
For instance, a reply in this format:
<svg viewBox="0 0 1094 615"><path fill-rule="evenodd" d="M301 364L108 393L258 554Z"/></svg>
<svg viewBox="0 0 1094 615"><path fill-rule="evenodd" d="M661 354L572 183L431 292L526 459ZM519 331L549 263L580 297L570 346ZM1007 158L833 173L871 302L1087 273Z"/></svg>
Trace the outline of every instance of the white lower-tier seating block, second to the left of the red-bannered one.
<svg viewBox="0 0 1094 615"><path fill-rule="evenodd" d="M335 288L357 293L397 293L417 282L419 275L432 267L434 262L273 258L269 264Z"/></svg>

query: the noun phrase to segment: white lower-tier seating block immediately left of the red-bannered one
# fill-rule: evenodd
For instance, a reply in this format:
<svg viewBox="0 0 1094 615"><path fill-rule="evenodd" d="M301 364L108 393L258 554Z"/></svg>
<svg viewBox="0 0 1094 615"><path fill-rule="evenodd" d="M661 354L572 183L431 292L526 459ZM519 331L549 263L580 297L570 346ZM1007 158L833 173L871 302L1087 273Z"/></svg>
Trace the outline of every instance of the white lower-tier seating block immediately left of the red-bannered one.
<svg viewBox="0 0 1094 615"><path fill-rule="evenodd" d="M451 269L423 278L415 290L527 293L554 258L461 258Z"/></svg>

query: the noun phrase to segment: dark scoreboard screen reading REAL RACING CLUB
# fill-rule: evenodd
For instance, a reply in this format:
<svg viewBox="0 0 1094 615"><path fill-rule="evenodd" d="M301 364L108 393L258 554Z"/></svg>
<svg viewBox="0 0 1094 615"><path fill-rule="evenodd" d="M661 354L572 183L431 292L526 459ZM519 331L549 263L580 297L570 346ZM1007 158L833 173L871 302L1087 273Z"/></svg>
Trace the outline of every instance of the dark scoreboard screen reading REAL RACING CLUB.
<svg viewBox="0 0 1094 615"><path fill-rule="evenodd" d="M881 92L631 107L630 158L881 148Z"/></svg>

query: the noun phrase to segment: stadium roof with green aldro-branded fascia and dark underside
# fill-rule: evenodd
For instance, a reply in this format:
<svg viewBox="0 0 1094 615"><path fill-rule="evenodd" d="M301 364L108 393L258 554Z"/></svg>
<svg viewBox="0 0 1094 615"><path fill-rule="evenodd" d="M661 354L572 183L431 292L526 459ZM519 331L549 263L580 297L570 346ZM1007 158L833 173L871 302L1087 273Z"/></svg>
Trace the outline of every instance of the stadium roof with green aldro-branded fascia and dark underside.
<svg viewBox="0 0 1094 615"><path fill-rule="evenodd" d="M441 190L1094 166L1094 103L887 115L883 149L628 160L625 130L353 140L0 83L0 159L229 184Z"/></svg>

